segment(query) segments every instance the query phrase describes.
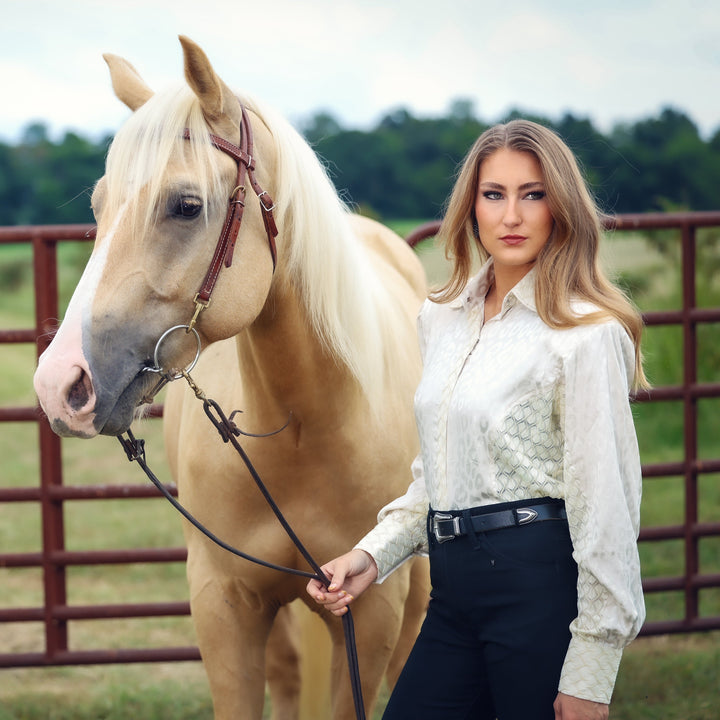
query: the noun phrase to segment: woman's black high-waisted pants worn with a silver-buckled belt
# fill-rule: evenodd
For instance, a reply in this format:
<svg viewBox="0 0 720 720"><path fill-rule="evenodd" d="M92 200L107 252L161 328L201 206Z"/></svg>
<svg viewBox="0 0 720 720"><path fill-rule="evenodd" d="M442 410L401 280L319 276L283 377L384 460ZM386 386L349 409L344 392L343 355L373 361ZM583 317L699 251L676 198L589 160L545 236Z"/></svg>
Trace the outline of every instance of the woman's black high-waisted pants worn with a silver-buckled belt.
<svg viewBox="0 0 720 720"><path fill-rule="evenodd" d="M383 720L553 720L577 616L567 522L431 540L430 574L427 617Z"/></svg>

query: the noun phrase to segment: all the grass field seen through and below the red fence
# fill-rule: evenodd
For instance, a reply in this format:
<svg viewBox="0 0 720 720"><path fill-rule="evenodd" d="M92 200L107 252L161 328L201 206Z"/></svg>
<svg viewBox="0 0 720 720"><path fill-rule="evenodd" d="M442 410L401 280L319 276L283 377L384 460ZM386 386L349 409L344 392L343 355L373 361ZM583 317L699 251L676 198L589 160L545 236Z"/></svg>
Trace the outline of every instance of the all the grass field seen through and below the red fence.
<svg viewBox="0 0 720 720"><path fill-rule="evenodd" d="M398 226L405 234L408 227ZM60 288L63 303L79 277L87 256L86 244L61 248ZM431 283L447 272L442 253L432 241L418 253ZM676 263L633 234L608 239L604 261L621 282L634 290L642 309L679 306ZM29 248L0 246L0 328L33 325L29 286ZM720 305L720 288L709 279L699 285L706 306ZM720 337L717 327L703 330L701 381L717 382ZM675 328L650 328L647 332L648 372L655 384L681 381L681 335ZM34 349L21 345L0 346L0 406L32 405ZM720 457L720 400L700 403L701 457ZM644 463L682 458L683 417L677 403L638 404L636 415ZM145 437L154 469L169 480L164 465L160 423L144 421L136 434ZM0 486L37 484L37 432L32 424L7 423L0 427ZM65 482L142 483L139 470L130 465L114 439L92 442L63 441ZM700 514L705 522L720 521L720 475L703 475L699 483ZM182 544L180 523L162 500L88 501L66 503L69 549L118 547L168 547ZM644 488L643 526L680 524L684 514L682 478L648 480ZM37 551L41 521L34 504L0 505L0 548L3 552ZM680 541L644 543L641 558L645 577L675 576L683 571ZM720 538L700 541L701 571L720 573ZM70 604L93 602L146 602L187 599L184 568L167 566L110 566L70 568ZM648 619L680 618L681 593L647 598ZM700 593L701 613L720 614L720 590ZM0 608L42 605L39 570L0 568ZM86 621L71 623L73 649L163 647L194 644L188 618ZM720 678L720 633L645 638L626 652L618 680L611 717L614 720L710 720ZM44 649L42 627L33 623L0 624L0 652L39 652ZM211 708L199 663L94 666L82 668L0 670L0 720L53 718L210 718Z"/></svg>

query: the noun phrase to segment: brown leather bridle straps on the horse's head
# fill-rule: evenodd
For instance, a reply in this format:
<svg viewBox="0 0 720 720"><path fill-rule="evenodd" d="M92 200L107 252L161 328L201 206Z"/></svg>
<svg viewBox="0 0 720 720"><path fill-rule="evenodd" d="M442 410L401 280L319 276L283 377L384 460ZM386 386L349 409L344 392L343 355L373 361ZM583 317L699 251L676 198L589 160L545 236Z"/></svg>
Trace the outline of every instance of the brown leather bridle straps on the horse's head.
<svg viewBox="0 0 720 720"><path fill-rule="evenodd" d="M246 177L250 182L250 187L253 189L255 195L257 195L258 200L260 201L260 211L262 213L263 223L265 224L265 232L267 233L270 255L272 256L273 271L275 270L275 265L277 264L277 248L275 247L277 226L275 225L275 218L272 214L272 211L275 209L275 204L273 203L270 195L268 195L267 191L263 190L258 181L255 179L255 158L252 154L252 127L250 126L247 111L242 104L240 105L240 109L242 112L242 119L240 122L239 147L237 145L233 145L227 140L223 140L223 138L218 137L217 135L210 135L210 143L218 150L221 150L235 160L238 166L238 174L235 182L235 188L232 193L230 193L225 222L223 224L220 237L218 238L217 245L215 246L215 253L213 254L210 267L205 274L205 279L200 286L200 290L198 290L193 298L193 302L195 303L195 313L188 325L188 332L194 328L200 313L210 304L210 298L223 265L225 265L225 267L230 267L232 265L235 241L237 240L240 224L242 223L243 210L245 209ZM183 137L186 140L189 140L190 131L186 129Z"/></svg>

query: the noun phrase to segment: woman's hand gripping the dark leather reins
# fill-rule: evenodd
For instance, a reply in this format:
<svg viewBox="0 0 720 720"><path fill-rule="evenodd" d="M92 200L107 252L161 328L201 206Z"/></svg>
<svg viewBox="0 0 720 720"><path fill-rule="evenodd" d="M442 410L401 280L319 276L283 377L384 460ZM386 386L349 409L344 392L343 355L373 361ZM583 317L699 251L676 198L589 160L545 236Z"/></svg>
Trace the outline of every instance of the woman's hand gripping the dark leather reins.
<svg viewBox="0 0 720 720"><path fill-rule="evenodd" d="M322 566L330 580L326 590L319 580L307 584L307 592L333 615L344 615L347 606L377 579L377 565L364 550L351 550Z"/></svg>

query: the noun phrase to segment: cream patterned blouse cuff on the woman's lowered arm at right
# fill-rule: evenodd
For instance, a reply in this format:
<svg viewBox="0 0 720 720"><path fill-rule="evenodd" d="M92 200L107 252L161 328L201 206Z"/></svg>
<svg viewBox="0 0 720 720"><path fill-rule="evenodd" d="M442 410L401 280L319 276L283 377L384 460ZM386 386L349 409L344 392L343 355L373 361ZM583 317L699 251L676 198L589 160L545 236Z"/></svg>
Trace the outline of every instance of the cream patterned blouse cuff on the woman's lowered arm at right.
<svg viewBox="0 0 720 720"><path fill-rule="evenodd" d="M573 637L560 675L560 692L609 704L621 658L622 649L598 640Z"/></svg>

